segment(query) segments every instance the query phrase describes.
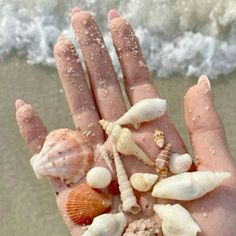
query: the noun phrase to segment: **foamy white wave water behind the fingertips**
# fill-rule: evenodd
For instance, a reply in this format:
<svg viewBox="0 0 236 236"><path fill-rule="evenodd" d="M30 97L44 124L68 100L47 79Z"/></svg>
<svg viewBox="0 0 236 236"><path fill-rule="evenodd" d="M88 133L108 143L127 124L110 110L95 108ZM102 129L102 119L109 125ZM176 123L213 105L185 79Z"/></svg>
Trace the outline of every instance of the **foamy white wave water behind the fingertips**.
<svg viewBox="0 0 236 236"><path fill-rule="evenodd" d="M94 14L117 71L106 17L111 8L134 27L156 76L217 78L236 68L235 0L1 0L0 57L17 52L28 63L53 66L56 38L75 42L69 19L76 5Z"/></svg>

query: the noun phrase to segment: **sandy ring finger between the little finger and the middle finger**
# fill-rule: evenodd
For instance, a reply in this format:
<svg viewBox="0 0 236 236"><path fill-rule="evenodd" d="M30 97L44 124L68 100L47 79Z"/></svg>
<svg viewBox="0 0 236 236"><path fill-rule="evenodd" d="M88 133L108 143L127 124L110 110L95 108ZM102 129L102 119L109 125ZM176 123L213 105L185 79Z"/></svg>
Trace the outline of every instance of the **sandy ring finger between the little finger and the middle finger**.
<svg viewBox="0 0 236 236"><path fill-rule="evenodd" d="M54 55L76 129L80 129L90 143L103 143L100 118L74 46L61 36L54 47Z"/></svg>

